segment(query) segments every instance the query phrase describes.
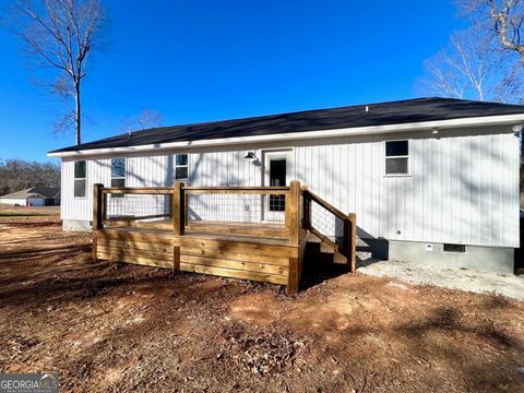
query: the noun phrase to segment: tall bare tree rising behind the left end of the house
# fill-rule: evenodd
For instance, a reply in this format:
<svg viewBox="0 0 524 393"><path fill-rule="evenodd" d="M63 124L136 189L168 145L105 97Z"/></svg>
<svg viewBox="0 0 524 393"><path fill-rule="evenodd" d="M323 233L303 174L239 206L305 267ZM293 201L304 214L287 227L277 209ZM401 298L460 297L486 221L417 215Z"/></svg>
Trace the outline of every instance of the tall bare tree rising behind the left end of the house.
<svg viewBox="0 0 524 393"><path fill-rule="evenodd" d="M53 93L74 102L57 123L82 141L81 86L90 55L103 47L107 20L100 0L15 0L9 25L37 64L59 71Z"/></svg>

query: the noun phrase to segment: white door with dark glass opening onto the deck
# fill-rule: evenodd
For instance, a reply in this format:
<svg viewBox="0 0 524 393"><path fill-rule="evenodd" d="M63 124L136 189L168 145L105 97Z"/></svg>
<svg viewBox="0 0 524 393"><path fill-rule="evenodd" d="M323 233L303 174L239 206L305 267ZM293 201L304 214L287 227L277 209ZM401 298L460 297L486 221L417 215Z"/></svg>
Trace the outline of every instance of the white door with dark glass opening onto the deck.
<svg viewBox="0 0 524 393"><path fill-rule="evenodd" d="M264 186L285 187L291 181L291 151L264 153ZM285 195L270 195L264 199L263 217L265 222L285 221Z"/></svg>

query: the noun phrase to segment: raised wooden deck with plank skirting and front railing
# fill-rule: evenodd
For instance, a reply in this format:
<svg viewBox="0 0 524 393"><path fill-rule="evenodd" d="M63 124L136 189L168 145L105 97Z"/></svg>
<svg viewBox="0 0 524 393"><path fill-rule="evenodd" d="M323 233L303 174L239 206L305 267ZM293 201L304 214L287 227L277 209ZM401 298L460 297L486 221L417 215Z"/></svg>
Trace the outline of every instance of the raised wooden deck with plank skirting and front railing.
<svg viewBox="0 0 524 393"><path fill-rule="evenodd" d="M151 215L116 215L108 218L107 194L94 190L93 258L172 269L225 277L285 285L296 294L299 288L306 243L310 233L301 218L301 191L298 181L288 188L196 189L188 192L246 194L261 192L286 196L283 223L239 223L188 221L183 184L171 190L170 213L163 219ZM118 189L116 193L145 194L144 189ZM160 191L154 191L159 194ZM303 199L302 199L303 201ZM145 221L140 221L144 219ZM150 221L156 218L157 221ZM336 254L336 251L334 251ZM346 260L347 261L347 260Z"/></svg>

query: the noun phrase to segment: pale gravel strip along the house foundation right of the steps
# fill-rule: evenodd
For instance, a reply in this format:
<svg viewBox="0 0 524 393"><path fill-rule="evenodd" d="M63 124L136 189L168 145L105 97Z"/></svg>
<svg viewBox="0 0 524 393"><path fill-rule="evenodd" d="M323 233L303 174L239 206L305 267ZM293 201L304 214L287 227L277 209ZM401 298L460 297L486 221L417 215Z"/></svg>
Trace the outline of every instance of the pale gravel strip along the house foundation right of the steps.
<svg viewBox="0 0 524 393"><path fill-rule="evenodd" d="M465 267L444 267L417 262L377 261L358 269L376 277L398 278L408 284L434 285L477 294L497 294L524 300L524 276Z"/></svg>

